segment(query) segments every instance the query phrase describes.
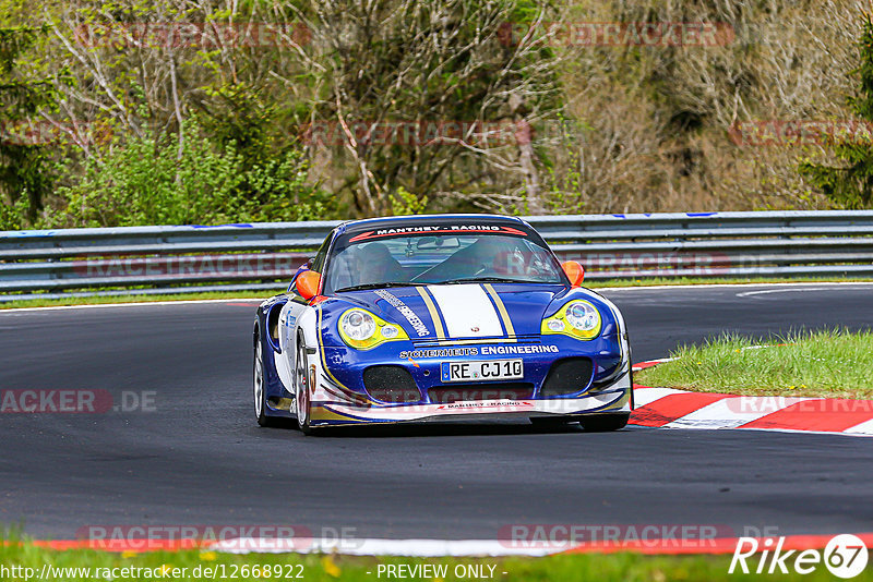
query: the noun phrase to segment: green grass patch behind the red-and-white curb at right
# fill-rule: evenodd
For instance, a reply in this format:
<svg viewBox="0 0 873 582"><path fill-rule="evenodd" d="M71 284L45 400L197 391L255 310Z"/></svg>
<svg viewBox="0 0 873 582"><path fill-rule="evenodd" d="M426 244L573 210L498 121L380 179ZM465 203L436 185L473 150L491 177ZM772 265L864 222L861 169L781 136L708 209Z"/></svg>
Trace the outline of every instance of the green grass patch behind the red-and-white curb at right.
<svg viewBox="0 0 873 582"><path fill-rule="evenodd" d="M750 349L755 344L782 344ZM873 334L791 334L755 341L737 336L685 345L675 360L634 377L644 386L750 396L873 399Z"/></svg>

